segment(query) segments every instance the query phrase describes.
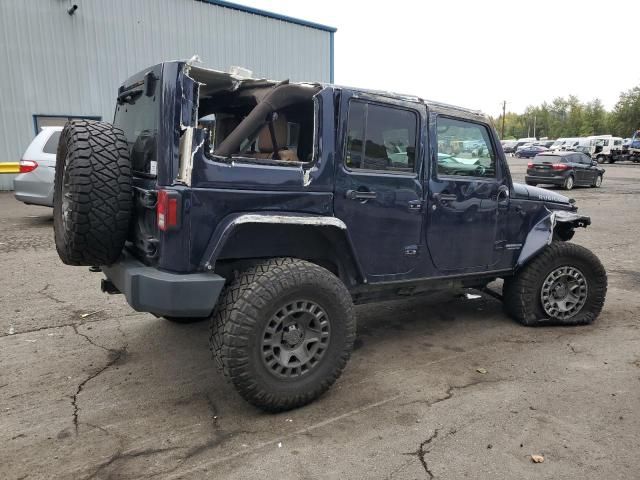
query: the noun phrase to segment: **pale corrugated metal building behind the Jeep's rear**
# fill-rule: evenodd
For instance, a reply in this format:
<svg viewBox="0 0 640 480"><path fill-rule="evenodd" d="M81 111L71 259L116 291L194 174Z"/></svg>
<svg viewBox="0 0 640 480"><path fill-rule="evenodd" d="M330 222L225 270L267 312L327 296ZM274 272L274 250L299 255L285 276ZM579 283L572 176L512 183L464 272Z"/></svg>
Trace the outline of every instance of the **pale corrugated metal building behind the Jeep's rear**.
<svg viewBox="0 0 640 480"><path fill-rule="evenodd" d="M1 0L0 30L0 161L18 161L40 126L110 121L118 86L164 60L333 81L335 28L226 1Z"/></svg>

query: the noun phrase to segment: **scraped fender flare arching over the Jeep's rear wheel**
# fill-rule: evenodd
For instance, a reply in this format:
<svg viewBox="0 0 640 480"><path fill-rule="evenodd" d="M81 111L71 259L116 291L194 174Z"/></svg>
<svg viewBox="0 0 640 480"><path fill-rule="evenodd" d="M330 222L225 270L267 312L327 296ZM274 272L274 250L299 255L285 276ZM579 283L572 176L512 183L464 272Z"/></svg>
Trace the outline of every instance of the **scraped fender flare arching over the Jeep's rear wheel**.
<svg viewBox="0 0 640 480"><path fill-rule="evenodd" d="M211 235L207 249L200 262L200 268L202 270L213 270L216 260L220 256L226 242L239 227L248 224L297 225L337 230L341 232L344 240L347 242L350 249L349 255L353 259L356 273L361 278L366 278L363 274L362 265L356 255L356 250L353 248L353 242L351 241L347 225L342 220L337 217L283 212L251 212L228 215L218 224Z"/></svg>

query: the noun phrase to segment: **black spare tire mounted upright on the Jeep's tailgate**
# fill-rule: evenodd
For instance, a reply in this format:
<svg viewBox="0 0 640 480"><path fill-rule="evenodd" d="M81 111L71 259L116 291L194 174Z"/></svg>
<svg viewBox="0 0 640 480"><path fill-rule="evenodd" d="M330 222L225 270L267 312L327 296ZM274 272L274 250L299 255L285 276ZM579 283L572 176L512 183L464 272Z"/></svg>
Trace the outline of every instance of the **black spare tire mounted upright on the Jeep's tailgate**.
<svg viewBox="0 0 640 480"><path fill-rule="evenodd" d="M67 265L110 265L133 211L129 147L122 130L74 120L60 136L53 192L56 250Z"/></svg>

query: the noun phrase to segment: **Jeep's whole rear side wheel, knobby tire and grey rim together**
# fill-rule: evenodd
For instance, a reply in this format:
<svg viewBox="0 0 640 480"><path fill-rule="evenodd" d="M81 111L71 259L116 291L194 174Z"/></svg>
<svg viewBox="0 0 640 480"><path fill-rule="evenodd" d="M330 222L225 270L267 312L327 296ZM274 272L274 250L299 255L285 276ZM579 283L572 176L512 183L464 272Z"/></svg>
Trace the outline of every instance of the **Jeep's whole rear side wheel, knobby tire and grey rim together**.
<svg viewBox="0 0 640 480"><path fill-rule="evenodd" d="M293 258L263 260L240 274L211 322L211 349L223 372L246 401L270 412L326 392L356 334L351 295L340 279Z"/></svg>

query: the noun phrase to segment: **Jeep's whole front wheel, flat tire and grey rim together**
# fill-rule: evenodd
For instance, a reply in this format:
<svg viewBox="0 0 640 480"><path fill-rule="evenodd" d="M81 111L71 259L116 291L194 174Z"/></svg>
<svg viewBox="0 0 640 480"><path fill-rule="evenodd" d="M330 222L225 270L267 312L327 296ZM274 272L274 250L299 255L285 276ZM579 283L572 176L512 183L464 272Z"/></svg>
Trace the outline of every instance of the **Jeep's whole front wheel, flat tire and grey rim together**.
<svg viewBox="0 0 640 480"><path fill-rule="evenodd" d="M586 325L600 314L607 273L592 252L574 243L553 242L505 279L505 311L526 326Z"/></svg>

